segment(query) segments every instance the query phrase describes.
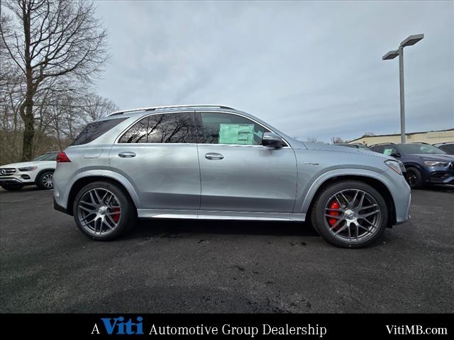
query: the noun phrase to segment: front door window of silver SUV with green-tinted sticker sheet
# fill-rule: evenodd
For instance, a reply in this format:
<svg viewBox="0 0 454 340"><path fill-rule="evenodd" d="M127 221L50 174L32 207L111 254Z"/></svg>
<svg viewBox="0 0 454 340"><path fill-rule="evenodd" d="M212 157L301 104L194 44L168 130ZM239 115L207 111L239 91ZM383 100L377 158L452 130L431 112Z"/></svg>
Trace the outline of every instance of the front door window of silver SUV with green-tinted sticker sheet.
<svg viewBox="0 0 454 340"><path fill-rule="evenodd" d="M262 136L270 132L262 125L241 115L202 112L201 144L262 145Z"/></svg>

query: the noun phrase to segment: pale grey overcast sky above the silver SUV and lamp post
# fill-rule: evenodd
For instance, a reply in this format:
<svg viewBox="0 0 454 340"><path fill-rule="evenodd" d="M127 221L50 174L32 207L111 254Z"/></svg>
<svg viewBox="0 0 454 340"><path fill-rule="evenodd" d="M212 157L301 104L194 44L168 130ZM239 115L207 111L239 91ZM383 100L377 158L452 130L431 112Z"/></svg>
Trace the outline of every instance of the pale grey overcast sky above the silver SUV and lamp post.
<svg viewBox="0 0 454 340"><path fill-rule="evenodd" d="M454 128L453 1L98 1L120 108L222 103L301 140L399 132L408 35L407 132Z"/></svg>

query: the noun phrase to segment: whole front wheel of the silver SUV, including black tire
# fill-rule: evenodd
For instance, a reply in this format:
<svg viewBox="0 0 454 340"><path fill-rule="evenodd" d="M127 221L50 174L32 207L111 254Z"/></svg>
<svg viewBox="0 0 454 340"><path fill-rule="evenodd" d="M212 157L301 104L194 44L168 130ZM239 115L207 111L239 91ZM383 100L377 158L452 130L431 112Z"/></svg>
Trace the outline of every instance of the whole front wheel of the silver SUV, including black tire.
<svg viewBox="0 0 454 340"><path fill-rule="evenodd" d="M382 237L387 222L384 198L360 181L328 186L315 198L311 210L311 223L321 237L343 248L362 248L375 242Z"/></svg>

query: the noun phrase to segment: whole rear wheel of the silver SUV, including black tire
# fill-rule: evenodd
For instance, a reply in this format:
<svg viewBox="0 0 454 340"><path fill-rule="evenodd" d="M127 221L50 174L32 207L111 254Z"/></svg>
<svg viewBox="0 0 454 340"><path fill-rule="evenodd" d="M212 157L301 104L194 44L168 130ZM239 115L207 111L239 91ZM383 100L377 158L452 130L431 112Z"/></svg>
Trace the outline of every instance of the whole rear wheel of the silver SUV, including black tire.
<svg viewBox="0 0 454 340"><path fill-rule="evenodd" d="M74 199L72 211L80 231L96 241L120 237L137 220L137 210L128 194L115 184L104 181L84 186Z"/></svg>

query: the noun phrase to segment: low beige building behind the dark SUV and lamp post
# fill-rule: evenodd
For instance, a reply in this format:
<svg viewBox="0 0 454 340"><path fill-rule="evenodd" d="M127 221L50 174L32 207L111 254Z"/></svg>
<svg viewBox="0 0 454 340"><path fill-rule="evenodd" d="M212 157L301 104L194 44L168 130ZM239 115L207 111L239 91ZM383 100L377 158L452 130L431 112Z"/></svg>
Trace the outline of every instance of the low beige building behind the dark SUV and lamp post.
<svg viewBox="0 0 454 340"><path fill-rule="evenodd" d="M445 143L454 142L454 128L449 130L411 132L406 134L407 143ZM379 143L400 143L400 133L392 135L362 136L348 143L362 143L364 145L374 145Z"/></svg>

